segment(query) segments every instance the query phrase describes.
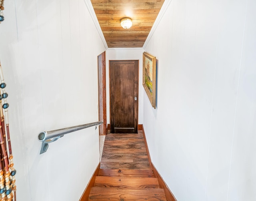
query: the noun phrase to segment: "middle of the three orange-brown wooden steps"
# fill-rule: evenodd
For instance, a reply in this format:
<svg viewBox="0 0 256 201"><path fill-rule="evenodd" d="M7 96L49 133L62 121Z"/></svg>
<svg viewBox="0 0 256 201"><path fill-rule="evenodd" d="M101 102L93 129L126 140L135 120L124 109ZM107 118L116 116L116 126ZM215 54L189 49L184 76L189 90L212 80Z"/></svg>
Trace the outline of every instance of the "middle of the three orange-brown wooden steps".
<svg viewBox="0 0 256 201"><path fill-rule="evenodd" d="M159 188L157 178L149 177L103 177L97 176L95 187L118 187L118 188Z"/></svg>

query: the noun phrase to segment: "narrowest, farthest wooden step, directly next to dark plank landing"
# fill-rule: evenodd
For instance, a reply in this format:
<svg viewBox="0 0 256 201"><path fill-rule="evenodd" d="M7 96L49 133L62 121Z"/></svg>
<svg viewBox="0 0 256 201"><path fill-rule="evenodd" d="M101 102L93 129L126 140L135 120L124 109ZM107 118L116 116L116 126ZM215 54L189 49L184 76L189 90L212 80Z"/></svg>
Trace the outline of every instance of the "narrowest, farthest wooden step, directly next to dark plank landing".
<svg viewBox="0 0 256 201"><path fill-rule="evenodd" d="M155 177L150 169L100 169L99 176L108 177Z"/></svg>

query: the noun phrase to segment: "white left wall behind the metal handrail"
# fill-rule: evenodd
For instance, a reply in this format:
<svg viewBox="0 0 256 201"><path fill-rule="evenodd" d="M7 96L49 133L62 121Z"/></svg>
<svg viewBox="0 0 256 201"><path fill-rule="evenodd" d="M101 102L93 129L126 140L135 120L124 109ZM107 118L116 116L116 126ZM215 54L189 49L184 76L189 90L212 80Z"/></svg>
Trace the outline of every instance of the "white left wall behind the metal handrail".
<svg viewBox="0 0 256 201"><path fill-rule="evenodd" d="M98 120L97 55L83 0L10 0L0 59L10 103L17 200L77 201L99 163L98 129L68 134L40 155L38 133Z"/></svg>

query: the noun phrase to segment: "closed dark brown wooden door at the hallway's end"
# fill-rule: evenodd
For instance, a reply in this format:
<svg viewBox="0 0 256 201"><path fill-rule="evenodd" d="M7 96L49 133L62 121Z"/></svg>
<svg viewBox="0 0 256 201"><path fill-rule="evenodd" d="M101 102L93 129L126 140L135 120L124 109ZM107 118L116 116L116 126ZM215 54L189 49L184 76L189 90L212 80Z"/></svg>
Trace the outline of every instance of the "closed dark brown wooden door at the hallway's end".
<svg viewBox="0 0 256 201"><path fill-rule="evenodd" d="M110 61L110 132L138 133L138 60Z"/></svg>

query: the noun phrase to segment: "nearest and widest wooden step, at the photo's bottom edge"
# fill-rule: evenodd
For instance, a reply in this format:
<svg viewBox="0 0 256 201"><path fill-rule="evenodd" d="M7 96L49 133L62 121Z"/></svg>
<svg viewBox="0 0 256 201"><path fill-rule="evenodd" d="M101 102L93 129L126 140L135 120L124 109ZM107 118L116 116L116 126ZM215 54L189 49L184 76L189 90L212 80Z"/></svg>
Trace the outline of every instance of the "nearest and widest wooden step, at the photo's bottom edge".
<svg viewBox="0 0 256 201"><path fill-rule="evenodd" d="M164 189L92 187L89 201L167 201Z"/></svg>

